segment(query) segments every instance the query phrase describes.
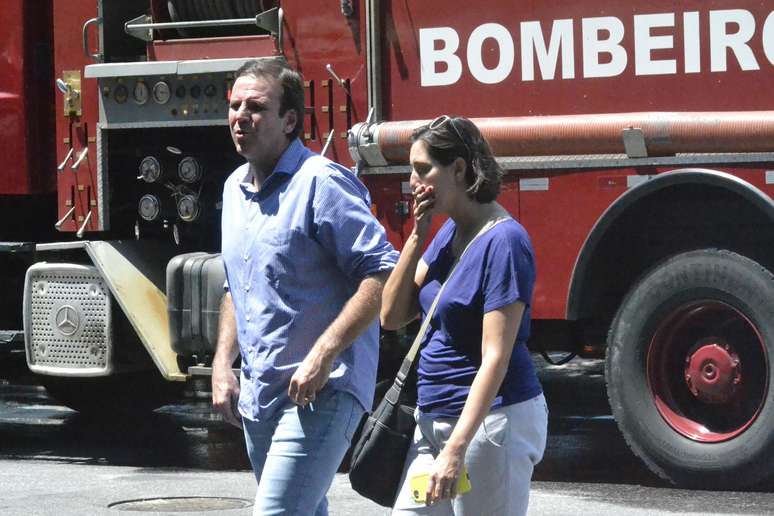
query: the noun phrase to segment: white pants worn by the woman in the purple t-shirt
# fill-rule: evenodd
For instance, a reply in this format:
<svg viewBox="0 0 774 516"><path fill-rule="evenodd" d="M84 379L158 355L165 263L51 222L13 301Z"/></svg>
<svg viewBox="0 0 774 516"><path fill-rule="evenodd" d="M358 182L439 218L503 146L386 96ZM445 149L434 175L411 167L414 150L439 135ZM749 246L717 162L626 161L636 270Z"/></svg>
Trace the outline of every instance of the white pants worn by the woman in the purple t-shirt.
<svg viewBox="0 0 774 516"><path fill-rule="evenodd" d="M548 407L542 394L490 412L465 454L471 490L431 506L414 501L410 478L429 471L451 436L456 418L434 419L417 410L414 440L403 467L393 516L522 516L532 470L546 447Z"/></svg>

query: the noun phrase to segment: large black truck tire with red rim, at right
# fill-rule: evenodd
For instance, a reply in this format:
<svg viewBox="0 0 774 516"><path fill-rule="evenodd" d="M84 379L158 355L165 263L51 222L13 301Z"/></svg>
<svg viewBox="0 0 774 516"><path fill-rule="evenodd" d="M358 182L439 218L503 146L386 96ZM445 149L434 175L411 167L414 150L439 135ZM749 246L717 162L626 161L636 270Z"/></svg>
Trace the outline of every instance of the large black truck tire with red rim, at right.
<svg viewBox="0 0 774 516"><path fill-rule="evenodd" d="M729 251L673 256L626 295L605 374L627 443L655 473L704 489L774 473L774 276Z"/></svg>

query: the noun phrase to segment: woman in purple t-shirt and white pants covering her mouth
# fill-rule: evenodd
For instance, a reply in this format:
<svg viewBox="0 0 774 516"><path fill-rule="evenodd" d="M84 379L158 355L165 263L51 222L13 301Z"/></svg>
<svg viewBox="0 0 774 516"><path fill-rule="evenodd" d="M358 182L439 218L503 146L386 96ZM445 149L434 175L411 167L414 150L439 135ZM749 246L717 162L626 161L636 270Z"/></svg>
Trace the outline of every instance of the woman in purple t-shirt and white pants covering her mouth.
<svg viewBox="0 0 774 516"><path fill-rule="evenodd" d="M548 419L526 347L532 245L495 202L503 171L470 120L441 116L413 141L414 230L384 288L382 325L424 317L448 284L419 354L417 429L393 514L526 514ZM433 215L449 220L422 254ZM472 489L458 493L464 472ZM414 493L423 474L426 496Z"/></svg>

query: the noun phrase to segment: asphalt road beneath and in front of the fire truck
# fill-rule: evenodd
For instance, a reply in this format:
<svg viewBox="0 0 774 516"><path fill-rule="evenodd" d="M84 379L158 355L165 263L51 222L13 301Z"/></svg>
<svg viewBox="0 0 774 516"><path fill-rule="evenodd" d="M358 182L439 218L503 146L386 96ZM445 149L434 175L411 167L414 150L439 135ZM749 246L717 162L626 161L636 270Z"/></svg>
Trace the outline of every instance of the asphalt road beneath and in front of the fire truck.
<svg viewBox="0 0 774 516"><path fill-rule="evenodd" d="M652 475L615 427L600 361L541 364L540 375L551 417L530 515L774 514L774 488L684 491ZM211 413L201 389L145 418L95 421L41 387L0 380L0 515L249 515L254 489L241 434ZM329 500L332 516L389 514L345 475Z"/></svg>

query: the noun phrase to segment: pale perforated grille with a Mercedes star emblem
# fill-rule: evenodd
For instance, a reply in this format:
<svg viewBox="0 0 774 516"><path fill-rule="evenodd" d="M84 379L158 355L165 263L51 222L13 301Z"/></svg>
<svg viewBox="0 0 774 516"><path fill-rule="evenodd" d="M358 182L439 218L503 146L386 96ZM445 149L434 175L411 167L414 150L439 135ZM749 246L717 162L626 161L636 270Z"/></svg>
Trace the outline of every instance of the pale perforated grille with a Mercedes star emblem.
<svg viewBox="0 0 774 516"><path fill-rule="evenodd" d="M36 373L101 376L112 371L110 293L96 267L38 263L27 270L24 334Z"/></svg>

